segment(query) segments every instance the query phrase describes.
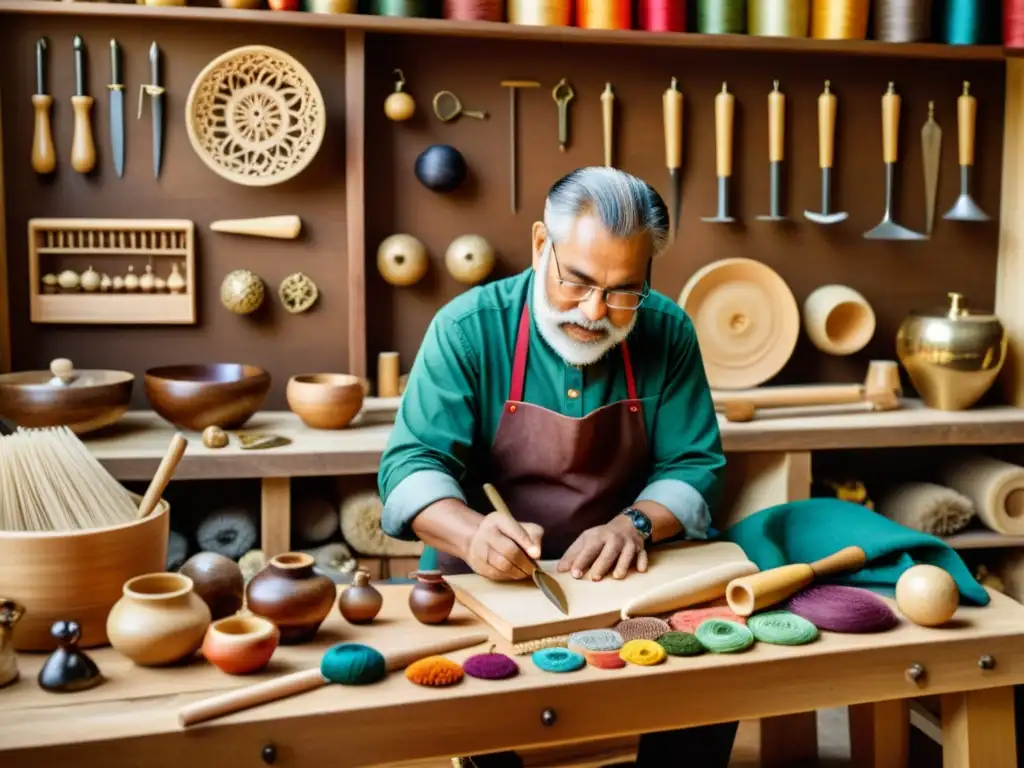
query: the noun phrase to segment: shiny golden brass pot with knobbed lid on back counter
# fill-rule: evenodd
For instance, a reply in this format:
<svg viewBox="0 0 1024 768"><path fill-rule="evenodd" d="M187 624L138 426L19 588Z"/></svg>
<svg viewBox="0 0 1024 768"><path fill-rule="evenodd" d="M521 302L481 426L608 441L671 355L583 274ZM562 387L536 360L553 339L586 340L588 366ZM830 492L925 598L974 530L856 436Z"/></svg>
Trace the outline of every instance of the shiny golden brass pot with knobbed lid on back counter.
<svg viewBox="0 0 1024 768"><path fill-rule="evenodd" d="M929 408L964 411L977 402L1007 359L1007 332L994 314L962 305L911 312L896 334L896 354Z"/></svg>

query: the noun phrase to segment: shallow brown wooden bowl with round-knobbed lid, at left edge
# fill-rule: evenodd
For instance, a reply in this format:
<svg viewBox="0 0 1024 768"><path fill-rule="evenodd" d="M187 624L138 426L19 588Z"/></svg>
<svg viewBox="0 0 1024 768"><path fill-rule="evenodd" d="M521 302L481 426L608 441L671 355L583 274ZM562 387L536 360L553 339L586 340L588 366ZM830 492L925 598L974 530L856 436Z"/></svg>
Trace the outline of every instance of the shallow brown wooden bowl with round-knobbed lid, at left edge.
<svg viewBox="0 0 1024 768"><path fill-rule="evenodd" d="M135 377L127 371L75 371L70 385L49 371L0 376L0 417L19 427L67 426L76 434L108 427L128 411Z"/></svg>

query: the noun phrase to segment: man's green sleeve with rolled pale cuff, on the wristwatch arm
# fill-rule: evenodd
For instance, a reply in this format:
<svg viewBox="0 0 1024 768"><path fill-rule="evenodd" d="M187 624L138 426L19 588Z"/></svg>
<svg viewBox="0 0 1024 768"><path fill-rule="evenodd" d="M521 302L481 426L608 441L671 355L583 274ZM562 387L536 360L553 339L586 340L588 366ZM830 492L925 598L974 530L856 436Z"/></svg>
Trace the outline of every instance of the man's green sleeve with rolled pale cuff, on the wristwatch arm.
<svg viewBox="0 0 1024 768"><path fill-rule="evenodd" d="M651 474L637 501L669 509L687 539L707 539L725 456L696 332L685 315L677 328L654 418Z"/></svg>

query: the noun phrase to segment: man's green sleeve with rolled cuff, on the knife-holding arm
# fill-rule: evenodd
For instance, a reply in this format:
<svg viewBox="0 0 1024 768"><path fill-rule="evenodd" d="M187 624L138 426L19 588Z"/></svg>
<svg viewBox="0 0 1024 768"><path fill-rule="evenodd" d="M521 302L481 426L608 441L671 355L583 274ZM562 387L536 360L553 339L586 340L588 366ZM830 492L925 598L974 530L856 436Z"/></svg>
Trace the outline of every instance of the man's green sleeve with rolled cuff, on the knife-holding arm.
<svg viewBox="0 0 1024 768"><path fill-rule="evenodd" d="M413 519L441 499L465 501L459 480L477 422L476 355L458 323L441 312L427 329L381 458L381 527L415 541Z"/></svg>

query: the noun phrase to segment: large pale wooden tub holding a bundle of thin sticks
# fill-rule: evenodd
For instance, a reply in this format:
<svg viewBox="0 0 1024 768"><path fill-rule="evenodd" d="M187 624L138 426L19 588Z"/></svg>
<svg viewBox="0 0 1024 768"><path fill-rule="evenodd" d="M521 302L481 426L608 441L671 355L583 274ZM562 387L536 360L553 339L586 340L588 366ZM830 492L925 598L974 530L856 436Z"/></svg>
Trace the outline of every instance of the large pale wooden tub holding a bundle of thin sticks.
<svg viewBox="0 0 1024 768"><path fill-rule="evenodd" d="M106 645L106 614L124 583L167 568L170 519L170 505L161 500L153 514L123 525L0 530L0 596L25 606L14 625L14 650L53 650L50 627L58 621L78 622L81 647Z"/></svg>

